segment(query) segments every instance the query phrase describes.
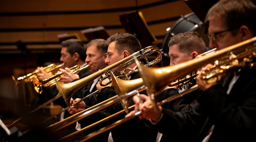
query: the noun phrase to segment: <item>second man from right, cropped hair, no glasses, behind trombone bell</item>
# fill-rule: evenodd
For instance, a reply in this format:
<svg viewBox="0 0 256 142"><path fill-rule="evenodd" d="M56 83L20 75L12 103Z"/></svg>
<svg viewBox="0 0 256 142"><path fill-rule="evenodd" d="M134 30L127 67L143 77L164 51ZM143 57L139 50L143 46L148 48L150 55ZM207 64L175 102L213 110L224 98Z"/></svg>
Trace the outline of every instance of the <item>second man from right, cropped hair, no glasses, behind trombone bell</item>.
<svg viewBox="0 0 256 142"><path fill-rule="evenodd" d="M170 66L195 59L198 55L202 56L202 54L206 52L206 45L203 39L195 31L189 31L174 35L170 38L168 46ZM177 83L173 82L172 84L170 84L170 86L166 86L161 94L158 95L158 101L160 102L161 100L164 100L170 96L182 93L185 90L189 89L191 86L195 85L195 79L194 77L192 77L192 75L196 75L196 73L197 71L194 71L189 74L190 79L187 81L179 81ZM196 90L188 95L184 95L169 103L166 103L162 105L162 107L171 109L175 112L190 111L194 106L196 99L198 99L201 94L201 90ZM162 133L158 133L156 139L156 141L174 141L172 137L168 137L168 135L162 135Z"/></svg>

